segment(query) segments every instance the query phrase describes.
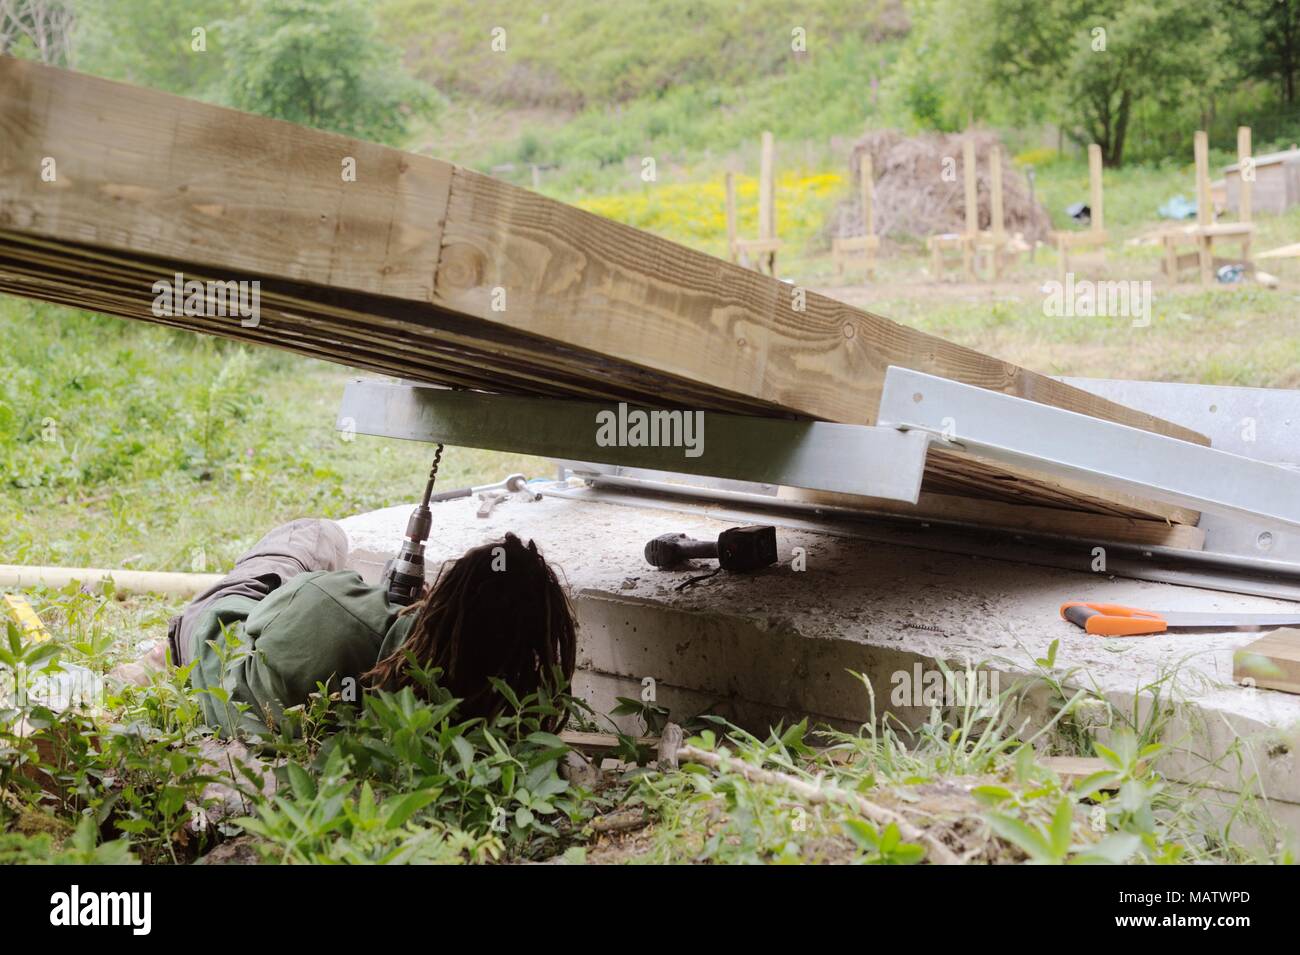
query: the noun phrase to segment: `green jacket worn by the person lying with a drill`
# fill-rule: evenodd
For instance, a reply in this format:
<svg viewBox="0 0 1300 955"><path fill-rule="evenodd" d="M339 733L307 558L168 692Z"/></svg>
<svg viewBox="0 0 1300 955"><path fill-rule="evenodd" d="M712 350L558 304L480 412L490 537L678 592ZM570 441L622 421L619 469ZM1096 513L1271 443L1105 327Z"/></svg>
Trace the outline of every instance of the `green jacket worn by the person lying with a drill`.
<svg viewBox="0 0 1300 955"><path fill-rule="evenodd" d="M199 694L204 717L225 735L268 735L317 683L360 700L361 674L411 631L415 616L399 617L400 609L354 570L298 574L264 600L217 600L195 625L187 648L190 682L199 690L216 687ZM240 713L237 703L248 709Z"/></svg>

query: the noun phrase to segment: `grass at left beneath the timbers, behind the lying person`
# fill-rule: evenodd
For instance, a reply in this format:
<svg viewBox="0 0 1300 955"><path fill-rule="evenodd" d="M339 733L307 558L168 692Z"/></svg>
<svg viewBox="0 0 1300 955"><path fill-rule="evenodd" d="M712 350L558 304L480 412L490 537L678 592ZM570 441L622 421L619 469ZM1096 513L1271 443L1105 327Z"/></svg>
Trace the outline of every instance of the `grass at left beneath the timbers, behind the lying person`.
<svg viewBox="0 0 1300 955"><path fill-rule="evenodd" d="M413 503L432 446L334 430L350 372L0 299L8 563L220 570L276 524ZM549 473L448 448L439 489Z"/></svg>

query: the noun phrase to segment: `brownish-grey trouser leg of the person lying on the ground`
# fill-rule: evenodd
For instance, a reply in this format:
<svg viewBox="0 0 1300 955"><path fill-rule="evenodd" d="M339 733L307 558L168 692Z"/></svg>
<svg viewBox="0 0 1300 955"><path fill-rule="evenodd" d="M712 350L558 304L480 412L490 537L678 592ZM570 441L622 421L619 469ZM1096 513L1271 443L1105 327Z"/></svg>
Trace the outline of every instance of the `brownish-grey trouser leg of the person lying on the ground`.
<svg viewBox="0 0 1300 955"><path fill-rule="evenodd" d="M194 598L168 624L172 663L190 663L194 625L224 596L261 600L290 577L313 570L341 570L347 561L347 534L334 521L304 517L282 524L235 561L222 579Z"/></svg>

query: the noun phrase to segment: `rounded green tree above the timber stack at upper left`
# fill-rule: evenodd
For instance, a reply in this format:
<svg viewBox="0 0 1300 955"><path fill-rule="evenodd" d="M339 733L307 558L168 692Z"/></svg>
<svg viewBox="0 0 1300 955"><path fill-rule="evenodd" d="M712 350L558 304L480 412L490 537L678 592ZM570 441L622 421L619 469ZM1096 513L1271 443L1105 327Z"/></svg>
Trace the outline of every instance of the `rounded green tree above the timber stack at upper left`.
<svg viewBox="0 0 1300 955"><path fill-rule="evenodd" d="M224 94L239 109L396 144L436 103L361 0L250 0L221 32Z"/></svg>

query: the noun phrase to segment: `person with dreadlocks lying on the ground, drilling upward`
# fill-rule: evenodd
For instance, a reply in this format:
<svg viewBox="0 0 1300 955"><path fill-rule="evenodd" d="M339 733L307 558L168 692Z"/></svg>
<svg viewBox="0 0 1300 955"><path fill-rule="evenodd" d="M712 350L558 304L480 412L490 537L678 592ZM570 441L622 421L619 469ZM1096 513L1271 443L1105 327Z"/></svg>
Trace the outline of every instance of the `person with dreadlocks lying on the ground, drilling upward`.
<svg viewBox="0 0 1300 955"><path fill-rule="evenodd" d="M369 687L424 695L412 667L439 668L438 685L462 699L464 719L504 706L493 677L519 698L572 678L573 612L532 541L507 534L465 551L411 607L339 569L346 559L347 535L333 521L276 528L172 620L165 646L121 676L147 682L168 659L192 664L204 717L224 735L269 735L317 683L356 700Z"/></svg>

